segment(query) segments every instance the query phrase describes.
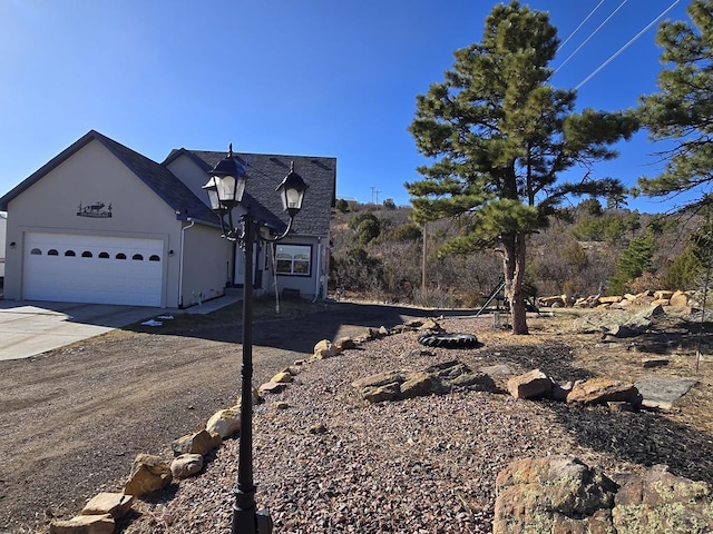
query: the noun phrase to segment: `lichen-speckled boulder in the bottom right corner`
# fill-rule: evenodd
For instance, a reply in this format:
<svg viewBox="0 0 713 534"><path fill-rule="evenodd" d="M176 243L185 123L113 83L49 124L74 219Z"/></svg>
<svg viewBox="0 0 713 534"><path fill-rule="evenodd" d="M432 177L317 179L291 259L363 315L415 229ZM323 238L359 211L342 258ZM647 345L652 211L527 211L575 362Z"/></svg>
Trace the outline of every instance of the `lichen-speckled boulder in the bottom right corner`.
<svg viewBox="0 0 713 534"><path fill-rule="evenodd" d="M628 476L614 503L618 534L713 532L713 500L707 484L674 476L663 465Z"/></svg>

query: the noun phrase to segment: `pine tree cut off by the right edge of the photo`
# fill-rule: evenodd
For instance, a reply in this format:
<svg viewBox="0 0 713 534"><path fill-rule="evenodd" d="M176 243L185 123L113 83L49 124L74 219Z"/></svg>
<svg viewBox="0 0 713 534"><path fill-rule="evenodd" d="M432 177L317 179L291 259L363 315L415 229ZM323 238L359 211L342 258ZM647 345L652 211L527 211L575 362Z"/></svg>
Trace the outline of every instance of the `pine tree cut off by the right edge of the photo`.
<svg viewBox="0 0 713 534"><path fill-rule="evenodd" d="M673 140L661 152L666 165L656 177L642 177L638 188L656 197L701 191L686 206L711 202L713 185L713 0L694 0L687 9L692 23L666 21L656 42L661 61L670 65L658 73L658 92L644 97L638 109L642 125L654 141Z"/></svg>

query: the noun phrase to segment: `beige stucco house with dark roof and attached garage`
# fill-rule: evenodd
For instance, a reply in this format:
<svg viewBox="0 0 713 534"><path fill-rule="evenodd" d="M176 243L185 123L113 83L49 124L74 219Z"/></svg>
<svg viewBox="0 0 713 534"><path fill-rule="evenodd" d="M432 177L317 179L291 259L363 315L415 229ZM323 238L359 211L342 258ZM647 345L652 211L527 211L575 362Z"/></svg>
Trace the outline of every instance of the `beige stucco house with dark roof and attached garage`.
<svg viewBox="0 0 713 534"><path fill-rule="evenodd" d="M158 164L89 131L0 198L4 298L188 307L240 285L242 250L222 238L202 190L226 155L180 148ZM247 171L243 207L275 231L289 221L275 188L292 162L309 186L287 238L255 244L256 291L322 297L336 159L237 156Z"/></svg>

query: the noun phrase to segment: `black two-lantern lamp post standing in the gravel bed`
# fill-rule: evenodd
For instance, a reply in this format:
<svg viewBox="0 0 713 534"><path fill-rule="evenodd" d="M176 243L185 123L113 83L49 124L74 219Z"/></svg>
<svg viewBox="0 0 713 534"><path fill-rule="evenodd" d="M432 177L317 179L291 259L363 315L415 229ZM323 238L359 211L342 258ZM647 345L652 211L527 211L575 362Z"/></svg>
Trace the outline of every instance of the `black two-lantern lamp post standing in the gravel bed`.
<svg viewBox="0 0 713 534"><path fill-rule="evenodd" d="M285 231L280 236L267 237L260 233L260 225L246 209L240 218L241 226L233 224L233 208L243 200L247 175L243 164L233 155L233 145L228 148L227 157L216 164L211 171L211 178L203 188L208 194L211 209L213 209L223 227L223 237L237 241L245 255L243 273L243 362L242 362L242 390L241 390L241 432L237 464L237 486L233 493L233 534L263 534L272 532L272 521L265 514L256 511L255 484L253 482L253 244L256 239L264 241L279 241L284 239L292 229L292 221L302 208L304 191L307 185L302 177L294 171L294 161L290 172L277 186L276 191L282 198L284 210L290 216L290 222ZM227 216L227 222L225 217ZM257 528L258 515L261 525ZM265 518L263 518L265 517Z"/></svg>

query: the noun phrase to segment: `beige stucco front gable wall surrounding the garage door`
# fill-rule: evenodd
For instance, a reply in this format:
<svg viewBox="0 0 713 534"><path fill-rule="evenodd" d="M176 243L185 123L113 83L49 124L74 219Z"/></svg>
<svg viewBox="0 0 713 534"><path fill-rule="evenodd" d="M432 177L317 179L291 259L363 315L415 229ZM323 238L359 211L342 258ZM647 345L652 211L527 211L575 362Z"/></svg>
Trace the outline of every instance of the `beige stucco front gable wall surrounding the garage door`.
<svg viewBox="0 0 713 534"><path fill-rule="evenodd" d="M88 238L101 243L121 238L158 243L160 299L152 305L178 305L180 221L173 209L101 142L90 141L50 170L13 198L8 212L7 239L17 245L6 258L6 298L27 299L23 293L27 289L33 298L39 295L32 293L37 286L28 286L25 279L32 274L27 270L26 240L43 234L65 240ZM170 255L170 250L175 254ZM152 303L155 301L152 298Z"/></svg>

